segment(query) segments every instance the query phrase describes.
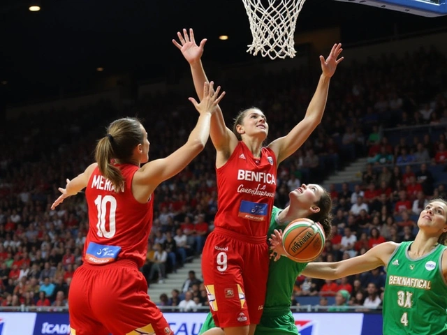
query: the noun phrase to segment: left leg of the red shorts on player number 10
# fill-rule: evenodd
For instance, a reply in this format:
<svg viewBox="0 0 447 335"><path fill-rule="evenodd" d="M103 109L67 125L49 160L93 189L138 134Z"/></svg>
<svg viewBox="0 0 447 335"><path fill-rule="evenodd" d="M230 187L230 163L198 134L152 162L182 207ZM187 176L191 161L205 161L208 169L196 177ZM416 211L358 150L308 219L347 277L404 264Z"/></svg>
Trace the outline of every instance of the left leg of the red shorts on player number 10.
<svg viewBox="0 0 447 335"><path fill-rule="evenodd" d="M89 307L89 292L91 292L94 278L95 275L83 267L80 267L73 276L68 292L71 335L110 334L108 329L94 318Z"/></svg>

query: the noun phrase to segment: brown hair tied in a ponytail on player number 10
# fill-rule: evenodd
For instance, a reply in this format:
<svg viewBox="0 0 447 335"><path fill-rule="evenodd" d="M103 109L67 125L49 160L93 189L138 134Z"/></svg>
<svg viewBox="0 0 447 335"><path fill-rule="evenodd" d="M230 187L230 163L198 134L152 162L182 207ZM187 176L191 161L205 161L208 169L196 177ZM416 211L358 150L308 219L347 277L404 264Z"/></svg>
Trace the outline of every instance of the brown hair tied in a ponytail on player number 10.
<svg viewBox="0 0 447 335"><path fill-rule="evenodd" d="M126 117L113 121L107 128L107 135L96 144L95 158L98 169L115 188L124 191L124 177L121 170L112 164L113 159L120 163L131 163L133 149L142 144L144 136L138 119Z"/></svg>

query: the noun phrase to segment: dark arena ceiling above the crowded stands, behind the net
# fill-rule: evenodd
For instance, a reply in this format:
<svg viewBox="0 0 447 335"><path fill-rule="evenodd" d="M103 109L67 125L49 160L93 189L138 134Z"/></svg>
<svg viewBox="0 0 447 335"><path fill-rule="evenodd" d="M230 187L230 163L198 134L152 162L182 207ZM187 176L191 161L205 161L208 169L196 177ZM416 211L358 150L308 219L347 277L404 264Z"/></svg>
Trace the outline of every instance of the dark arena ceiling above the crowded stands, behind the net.
<svg viewBox="0 0 447 335"><path fill-rule="evenodd" d="M3 103L57 96L70 82L80 89L98 75L97 67L132 73L137 80L166 76L185 65L170 42L184 27L208 38L207 59L225 64L252 57L245 52L251 34L241 0L41 0L36 13L27 9L29 3L0 1ZM346 44L446 26L447 17L307 0L297 31L342 27ZM229 39L219 40L221 34Z"/></svg>

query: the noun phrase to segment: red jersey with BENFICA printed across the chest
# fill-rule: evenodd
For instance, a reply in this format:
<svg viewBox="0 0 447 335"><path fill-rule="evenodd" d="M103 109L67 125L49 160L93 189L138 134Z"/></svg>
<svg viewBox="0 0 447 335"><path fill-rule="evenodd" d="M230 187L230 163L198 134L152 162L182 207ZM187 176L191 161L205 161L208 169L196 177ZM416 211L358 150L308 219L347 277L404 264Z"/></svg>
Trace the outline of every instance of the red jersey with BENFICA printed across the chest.
<svg viewBox="0 0 447 335"><path fill-rule="evenodd" d="M230 159L217 169L218 209L214 225L248 236L265 236L277 187L277 160L263 147L254 158L239 142Z"/></svg>

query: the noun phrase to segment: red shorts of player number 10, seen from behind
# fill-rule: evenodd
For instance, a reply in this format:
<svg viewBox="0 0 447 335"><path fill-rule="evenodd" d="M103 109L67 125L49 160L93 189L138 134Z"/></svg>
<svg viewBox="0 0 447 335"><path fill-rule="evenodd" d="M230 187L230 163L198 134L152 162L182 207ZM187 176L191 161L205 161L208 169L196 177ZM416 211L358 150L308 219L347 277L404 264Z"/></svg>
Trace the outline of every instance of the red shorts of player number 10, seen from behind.
<svg viewBox="0 0 447 335"><path fill-rule="evenodd" d="M68 293L71 335L173 335L134 262L82 265Z"/></svg>

